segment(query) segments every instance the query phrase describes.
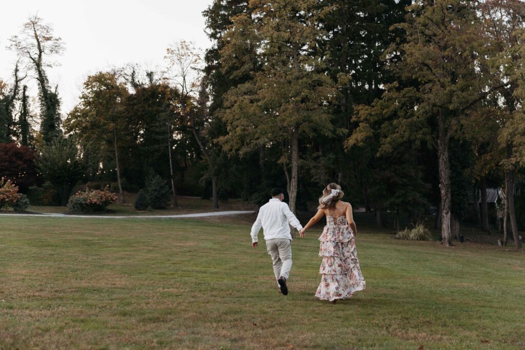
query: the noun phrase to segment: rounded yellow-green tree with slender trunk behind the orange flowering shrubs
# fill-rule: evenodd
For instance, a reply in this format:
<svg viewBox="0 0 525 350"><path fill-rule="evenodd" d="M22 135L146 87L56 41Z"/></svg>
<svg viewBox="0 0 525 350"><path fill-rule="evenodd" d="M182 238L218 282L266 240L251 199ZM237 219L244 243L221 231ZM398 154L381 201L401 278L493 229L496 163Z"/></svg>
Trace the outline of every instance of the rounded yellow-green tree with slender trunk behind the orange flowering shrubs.
<svg viewBox="0 0 525 350"><path fill-rule="evenodd" d="M119 141L129 131L123 101L128 96L125 84L114 72L99 72L84 82L80 103L69 113L64 127L78 134L80 141L100 147L100 155L113 154L117 170L120 203L124 202L119 163Z"/></svg>

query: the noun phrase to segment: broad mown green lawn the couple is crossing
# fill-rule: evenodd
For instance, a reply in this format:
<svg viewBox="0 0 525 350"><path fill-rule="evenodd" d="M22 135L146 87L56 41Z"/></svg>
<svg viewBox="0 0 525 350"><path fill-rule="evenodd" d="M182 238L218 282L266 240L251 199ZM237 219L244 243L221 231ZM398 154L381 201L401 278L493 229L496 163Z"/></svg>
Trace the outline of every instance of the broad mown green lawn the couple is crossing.
<svg viewBox="0 0 525 350"><path fill-rule="evenodd" d="M234 219L0 216L0 349L525 347L523 252L361 229L367 289L332 305L313 296L320 228L282 296Z"/></svg>

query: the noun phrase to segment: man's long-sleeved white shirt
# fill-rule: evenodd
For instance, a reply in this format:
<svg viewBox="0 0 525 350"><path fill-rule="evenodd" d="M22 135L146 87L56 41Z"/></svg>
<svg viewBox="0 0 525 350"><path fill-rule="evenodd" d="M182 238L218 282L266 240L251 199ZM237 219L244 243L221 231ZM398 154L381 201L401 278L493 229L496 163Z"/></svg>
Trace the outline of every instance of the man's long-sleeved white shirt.
<svg viewBox="0 0 525 350"><path fill-rule="evenodd" d="M288 204L280 201L278 198L272 198L259 209L257 220L251 227L251 241L258 241L257 235L261 227L264 230L265 240L275 238L292 239L288 224L297 230L302 229L301 223L293 215Z"/></svg>

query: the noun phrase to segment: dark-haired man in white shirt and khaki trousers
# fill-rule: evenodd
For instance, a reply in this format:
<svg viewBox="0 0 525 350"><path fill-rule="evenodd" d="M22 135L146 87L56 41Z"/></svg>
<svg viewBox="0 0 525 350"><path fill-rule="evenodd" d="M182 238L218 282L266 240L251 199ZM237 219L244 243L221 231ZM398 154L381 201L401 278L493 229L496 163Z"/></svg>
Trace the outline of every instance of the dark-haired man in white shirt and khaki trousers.
<svg viewBox="0 0 525 350"><path fill-rule="evenodd" d="M271 190L271 199L267 204L259 209L259 215L251 227L251 246L257 248L257 236L262 226L264 230L264 239L266 248L271 260L274 262L274 273L279 285L280 292L283 295L288 294L286 280L292 267L292 236L290 235L291 225L298 231L302 226L284 203L285 195L280 188Z"/></svg>

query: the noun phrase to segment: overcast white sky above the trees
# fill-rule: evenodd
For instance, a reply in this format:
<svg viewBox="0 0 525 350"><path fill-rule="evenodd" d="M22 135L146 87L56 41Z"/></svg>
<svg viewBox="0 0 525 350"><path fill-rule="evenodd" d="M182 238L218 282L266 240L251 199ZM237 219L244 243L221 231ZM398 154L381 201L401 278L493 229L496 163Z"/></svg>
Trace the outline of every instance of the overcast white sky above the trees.
<svg viewBox="0 0 525 350"><path fill-rule="evenodd" d="M202 11L212 0L24 0L6 2L0 20L0 78L12 81L16 60L5 49L27 17L38 13L66 44L60 66L48 72L58 84L62 113L78 101L86 77L99 70L140 63L155 67L176 40L194 41L206 49ZM31 81L31 93L36 94Z"/></svg>

